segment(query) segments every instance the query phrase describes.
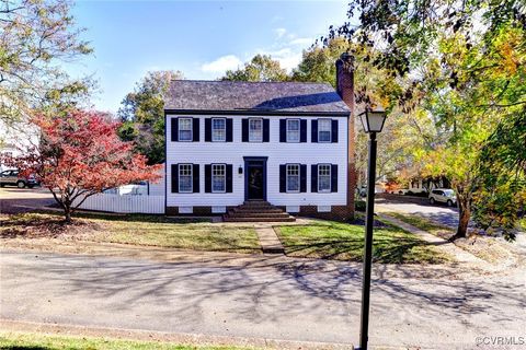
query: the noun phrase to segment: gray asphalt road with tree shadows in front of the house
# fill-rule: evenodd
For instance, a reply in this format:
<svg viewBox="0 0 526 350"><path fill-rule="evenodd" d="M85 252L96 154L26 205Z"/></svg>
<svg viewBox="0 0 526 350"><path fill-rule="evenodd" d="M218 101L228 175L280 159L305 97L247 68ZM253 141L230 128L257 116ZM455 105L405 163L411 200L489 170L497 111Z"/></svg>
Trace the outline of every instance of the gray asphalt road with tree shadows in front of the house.
<svg viewBox="0 0 526 350"><path fill-rule="evenodd" d="M0 317L211 336L357 341L358 264L283 257L262 258L262 262L167 264L2 252ZM420 277L422 272L433 277ZM370 343L472 349L476 337L525 336L523 272L506 277L454 272L377 266Z"/></svg>

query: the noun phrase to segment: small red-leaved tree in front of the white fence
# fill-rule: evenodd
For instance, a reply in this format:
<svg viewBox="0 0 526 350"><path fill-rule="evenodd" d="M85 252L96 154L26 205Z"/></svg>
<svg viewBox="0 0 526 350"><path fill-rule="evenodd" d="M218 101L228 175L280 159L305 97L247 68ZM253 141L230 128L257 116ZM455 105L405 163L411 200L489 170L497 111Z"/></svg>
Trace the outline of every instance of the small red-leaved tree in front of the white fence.
<svg viewBox="0 0 526 350"><path fill-rule="evenodd" d="M24 155L7 160L22 174L34 174L64 209L66 222L90 196L104 189L139 180L156 182L162 165L147 165L147 159L123 142L118 122L98 112L72 110L67 116L32 120L41 131L37 145Z"/></svg>

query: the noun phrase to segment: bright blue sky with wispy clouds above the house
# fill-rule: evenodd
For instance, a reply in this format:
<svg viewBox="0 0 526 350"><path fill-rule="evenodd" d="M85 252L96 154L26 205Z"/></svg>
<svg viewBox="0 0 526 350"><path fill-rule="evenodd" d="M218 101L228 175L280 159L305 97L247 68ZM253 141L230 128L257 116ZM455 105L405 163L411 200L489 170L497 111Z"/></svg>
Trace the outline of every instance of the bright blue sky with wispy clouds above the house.
<svg viewBox="0 0 526 350"><path fill-rule="evenodd" d="M95 108L115 113L149 70L216 79L255 54L290 69L345 13L346 1L80 1L73 16L94 55L68 71L93 74Z"/></svg>

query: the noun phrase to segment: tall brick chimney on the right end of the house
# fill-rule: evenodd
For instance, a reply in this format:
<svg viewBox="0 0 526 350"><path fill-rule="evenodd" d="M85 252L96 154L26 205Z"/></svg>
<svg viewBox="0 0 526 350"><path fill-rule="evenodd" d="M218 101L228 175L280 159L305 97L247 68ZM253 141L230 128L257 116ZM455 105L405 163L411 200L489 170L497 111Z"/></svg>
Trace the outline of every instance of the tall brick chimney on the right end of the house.
<svg viewBox="0 0 526 350"><path fill-rule="evenodd" d="M354 131L354 57L344 52L336 60L336 92L351 109L347 122L347 214L354 217L354 191L356 188L355 131Z"/></svg>

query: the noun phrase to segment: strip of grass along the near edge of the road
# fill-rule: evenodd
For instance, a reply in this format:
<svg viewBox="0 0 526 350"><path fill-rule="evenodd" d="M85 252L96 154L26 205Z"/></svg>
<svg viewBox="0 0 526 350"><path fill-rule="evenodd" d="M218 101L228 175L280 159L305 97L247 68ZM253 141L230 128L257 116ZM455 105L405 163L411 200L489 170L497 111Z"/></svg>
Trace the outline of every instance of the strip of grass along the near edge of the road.
<svg viewBox="0 0 526 350"><path fill-rule="evenodd" d="M10 350L241 350L249 348L185 346L160 341L47 336L28 332L0 332L0 349Z"/></svg>

